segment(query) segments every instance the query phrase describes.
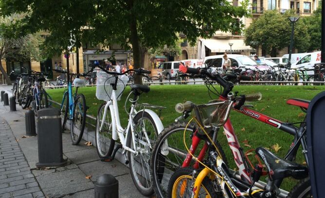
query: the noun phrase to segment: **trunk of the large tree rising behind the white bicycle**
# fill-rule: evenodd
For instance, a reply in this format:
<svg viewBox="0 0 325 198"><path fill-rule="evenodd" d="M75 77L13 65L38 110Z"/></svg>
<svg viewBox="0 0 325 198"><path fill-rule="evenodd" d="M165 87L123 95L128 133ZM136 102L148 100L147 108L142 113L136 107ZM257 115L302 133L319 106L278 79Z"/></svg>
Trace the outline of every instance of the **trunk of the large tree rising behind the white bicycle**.
<svg viewBox="0 0 325 198"><path fill-rule="evenodd" d="M138 30L137 30L137 19L133 11L133 0L128 0L127 6L130 12L130 16L129 16L130 41L132 44L134 68L138 69L141 67L141 54L140 54L140 45L139 45L139 37L138 37ZM141 76L135 75L134 82L142 84Z"/></svg>

